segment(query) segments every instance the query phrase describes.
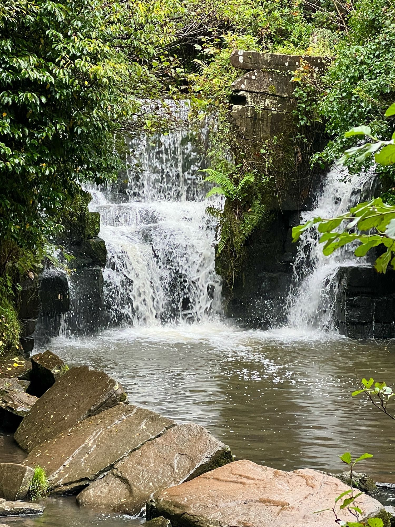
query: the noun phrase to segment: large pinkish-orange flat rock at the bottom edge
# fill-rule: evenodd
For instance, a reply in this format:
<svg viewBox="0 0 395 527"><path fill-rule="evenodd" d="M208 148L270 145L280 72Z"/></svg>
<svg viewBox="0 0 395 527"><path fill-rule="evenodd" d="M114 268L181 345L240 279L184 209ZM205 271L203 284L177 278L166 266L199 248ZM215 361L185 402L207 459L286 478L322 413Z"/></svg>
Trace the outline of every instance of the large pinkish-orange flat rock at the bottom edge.
<svg viewBox="0 0 395 527"><path fill-rule="evenodd" d="M338 479L311 469L283 472L234 461L194 480L156 492L147 517L164 516L175 524L222 527L335 527L332 508L349 489ZM363 516L377 515L382 505L362 494L356 500ZM385 514L385 512L384 512ZM355 521L348 511L339 518Z"/></svg>

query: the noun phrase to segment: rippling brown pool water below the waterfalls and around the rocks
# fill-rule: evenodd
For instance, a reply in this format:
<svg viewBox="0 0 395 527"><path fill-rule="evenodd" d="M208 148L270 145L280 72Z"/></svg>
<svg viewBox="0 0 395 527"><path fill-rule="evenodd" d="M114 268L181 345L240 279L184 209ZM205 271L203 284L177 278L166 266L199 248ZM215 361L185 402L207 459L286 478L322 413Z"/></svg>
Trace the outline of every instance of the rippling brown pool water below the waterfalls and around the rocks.
<svg viewBox="0 0 395 527"><path fill-rule="evenodd" d="M195 422L229 444L235 458L281 470L340 472L345 451L373 458L360 470L395 483L395 421L362 397L356 376L395 377L395 341L357 341L289 329L242 330L221 321L124 328L57 338L50 349L119 380L130 401L179 423ZM0 462L23 453L0 435ZM390 502L392 500L390 499ZM388 502L388 500L387 500ZM140 520L78 509L73 497L49 499L36 525L139 525Z"/></svg>

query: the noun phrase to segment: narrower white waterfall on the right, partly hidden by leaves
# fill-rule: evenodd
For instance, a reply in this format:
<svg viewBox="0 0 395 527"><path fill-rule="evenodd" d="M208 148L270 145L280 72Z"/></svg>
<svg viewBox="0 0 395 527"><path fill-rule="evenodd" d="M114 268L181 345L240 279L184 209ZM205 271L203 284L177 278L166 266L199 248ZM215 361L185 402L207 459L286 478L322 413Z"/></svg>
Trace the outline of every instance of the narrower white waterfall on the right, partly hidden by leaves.
<svg viewBox="0 0 395 527"><path fill-rule="evenodd" d="M340 216L371 195L371 172L350 175L337 165L326 175L312 210L301 214L301 223L317 216ZM345 245L324 256L317 225L306 230L293 264L293 279L287 299L288 325L299 330L334 329L333 310L337 291L337 270L341 266L363 265L364 258L353 256L355 246Z"/></svg>

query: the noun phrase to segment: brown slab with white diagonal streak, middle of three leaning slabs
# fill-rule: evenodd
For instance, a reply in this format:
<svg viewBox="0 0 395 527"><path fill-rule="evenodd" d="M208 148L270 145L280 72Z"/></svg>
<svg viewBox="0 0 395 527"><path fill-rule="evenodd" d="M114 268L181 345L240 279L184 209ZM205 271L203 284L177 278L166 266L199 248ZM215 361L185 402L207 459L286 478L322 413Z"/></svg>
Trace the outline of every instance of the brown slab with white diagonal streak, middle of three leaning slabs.
<svg viewBox="0 0 395 527"><path fill-rule="evenodd" d="M26 464L45 469L52 492L71 494L174 425L146 408L120 404L37 446Z"/></svg>

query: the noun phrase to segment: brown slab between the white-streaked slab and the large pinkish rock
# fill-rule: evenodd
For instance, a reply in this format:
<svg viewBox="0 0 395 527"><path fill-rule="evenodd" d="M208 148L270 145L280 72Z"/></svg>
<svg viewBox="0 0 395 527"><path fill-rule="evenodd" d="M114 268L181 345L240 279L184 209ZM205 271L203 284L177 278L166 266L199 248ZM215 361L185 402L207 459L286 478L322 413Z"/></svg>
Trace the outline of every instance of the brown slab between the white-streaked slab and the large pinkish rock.
<svg viewBox="0 0 395 527"><path fill-rule="evenodd" d="M138 514L150 495L233 461L230 448L202 426L171 428L145 443L77 496L80 505Z"/></svg>

